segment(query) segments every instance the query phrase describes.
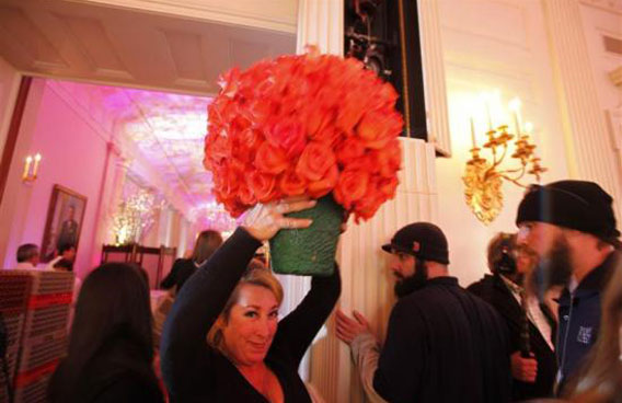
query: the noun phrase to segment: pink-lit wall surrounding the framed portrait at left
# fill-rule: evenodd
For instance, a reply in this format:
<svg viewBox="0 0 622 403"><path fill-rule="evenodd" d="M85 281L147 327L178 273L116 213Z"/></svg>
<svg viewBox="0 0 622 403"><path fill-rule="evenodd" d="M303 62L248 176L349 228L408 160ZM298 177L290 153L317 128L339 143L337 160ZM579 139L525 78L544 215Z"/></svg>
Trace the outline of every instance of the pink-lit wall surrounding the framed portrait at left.
<svg viewBox="0 0 622 403"><path fill-rule="evenodd" d="M15 251L20 244L41 245L54 184L88 198L74 266L77 274L83 277L96 262L95 216L110 138L78 105L66 100L69 97L46 85L45 80L34 80L10 171L9 197L0 210L0 220L10 228L8 242L3 245L3 267L15 265ZM39 176L32 185L26 185L20 180L23 161L26 154L35 152L43 156Z"/></svg>

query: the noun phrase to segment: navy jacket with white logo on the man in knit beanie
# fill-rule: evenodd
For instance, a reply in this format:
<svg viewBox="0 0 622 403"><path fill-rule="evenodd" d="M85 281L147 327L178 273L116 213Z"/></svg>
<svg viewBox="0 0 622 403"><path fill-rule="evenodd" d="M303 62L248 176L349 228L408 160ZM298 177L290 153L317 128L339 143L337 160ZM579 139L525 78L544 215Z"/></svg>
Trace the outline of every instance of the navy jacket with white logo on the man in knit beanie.
<svg viewBox="0 0 622 403"><path fill-rule="evenodd" d="M591 270L574 293L566 288L560 297L560 330L555 348L561 375L560 392L596 343L601 295L613 272L617 254L611 253L600 266Z"/></svg>

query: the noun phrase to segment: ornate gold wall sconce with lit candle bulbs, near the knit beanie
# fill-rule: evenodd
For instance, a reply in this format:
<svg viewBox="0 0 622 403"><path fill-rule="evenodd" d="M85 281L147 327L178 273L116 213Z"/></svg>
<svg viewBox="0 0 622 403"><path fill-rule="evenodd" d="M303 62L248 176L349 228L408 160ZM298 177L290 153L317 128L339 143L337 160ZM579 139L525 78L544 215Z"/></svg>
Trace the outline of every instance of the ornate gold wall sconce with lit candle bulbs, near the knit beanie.
<svg viewBox="0 0 622 403"><path fill-rule="evenodd" d="M493 127L489 105L486 103L488 129L486 141L482 148L475 140L475 123L471 117L471 140L473 148L471 159L466 161L464 170L464 197L471 211L484 224L489 224L499 215L503 208L504 196L502 186L504 180L520 187L528 187L521 182L526 175L531 175L540 182L540 175L546 171L540 165L540 158L535 156L535 145L531 142L528 131L521 130L519 117L520 101L512 100L509 110L514 117L515 133L509 131L507 124ZM482 153L486 152L486 156ZM509 158L508 158L509 157Z"/></svg>

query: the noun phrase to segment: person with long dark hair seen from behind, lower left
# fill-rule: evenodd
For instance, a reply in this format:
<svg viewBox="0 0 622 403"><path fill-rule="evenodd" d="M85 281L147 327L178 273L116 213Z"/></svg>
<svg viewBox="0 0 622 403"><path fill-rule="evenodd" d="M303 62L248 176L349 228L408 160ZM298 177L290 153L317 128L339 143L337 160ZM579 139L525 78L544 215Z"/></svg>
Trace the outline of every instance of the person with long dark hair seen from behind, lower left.
<svg viewBox="0 0 622 403"><path fill-rule="evenodd" d="M84 280L50 402L163 402L152 368L149 288L137 267L106 263Z"/></svg>

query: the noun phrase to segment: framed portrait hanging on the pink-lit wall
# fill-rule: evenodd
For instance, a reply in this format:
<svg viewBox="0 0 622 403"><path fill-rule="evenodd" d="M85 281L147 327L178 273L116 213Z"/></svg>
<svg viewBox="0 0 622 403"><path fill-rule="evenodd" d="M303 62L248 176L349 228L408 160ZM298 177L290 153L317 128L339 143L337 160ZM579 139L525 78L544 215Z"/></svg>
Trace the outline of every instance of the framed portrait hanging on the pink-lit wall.
<svg viewBox="0 0 622 403"><path fill-rule="evenodd" d="M64 245L73 245L78 251L85 210L85 196L54 185L41 244L42 262L51 261Z"/></svg>

